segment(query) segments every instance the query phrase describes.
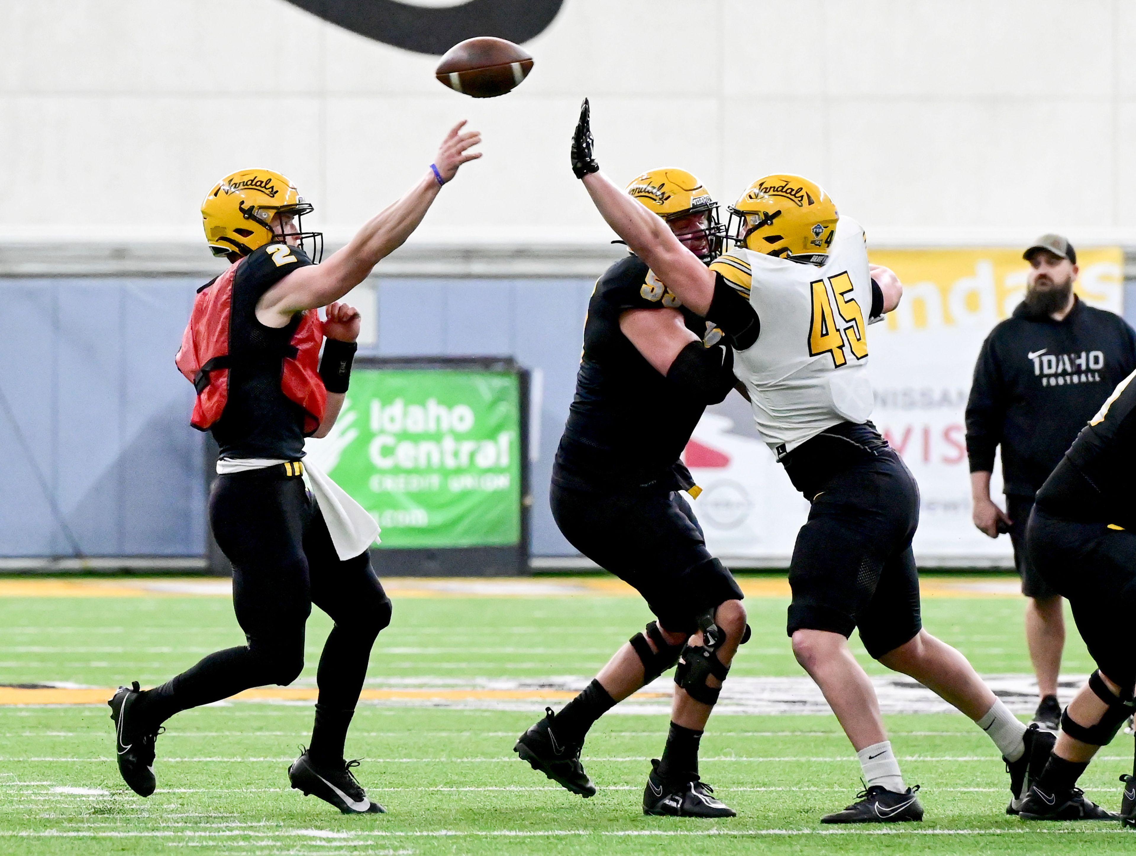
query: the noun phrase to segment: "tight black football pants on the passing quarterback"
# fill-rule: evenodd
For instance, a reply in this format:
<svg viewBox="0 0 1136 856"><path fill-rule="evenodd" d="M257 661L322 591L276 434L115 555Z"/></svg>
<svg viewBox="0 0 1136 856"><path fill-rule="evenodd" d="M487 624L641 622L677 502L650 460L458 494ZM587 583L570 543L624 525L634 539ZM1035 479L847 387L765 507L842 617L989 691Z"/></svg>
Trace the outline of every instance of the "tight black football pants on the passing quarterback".
<svg viewBox="0 0 1136 856"><path fill-rule="evenodd" d="M335 622L316 675L316 731L323 712L345 733L371 646L391 621L391 601L368 555L340 560L303 479L286 475L283 465L219 476L209 520L233 564L233 606L248 643L210 654L145 693L139 715L158 725L252 687L291 683L303 668L304 623L315 604ZM317 742L314 734L314 749ZM336 743L342 750L341 736L332 743L331 754Z"/></svg>

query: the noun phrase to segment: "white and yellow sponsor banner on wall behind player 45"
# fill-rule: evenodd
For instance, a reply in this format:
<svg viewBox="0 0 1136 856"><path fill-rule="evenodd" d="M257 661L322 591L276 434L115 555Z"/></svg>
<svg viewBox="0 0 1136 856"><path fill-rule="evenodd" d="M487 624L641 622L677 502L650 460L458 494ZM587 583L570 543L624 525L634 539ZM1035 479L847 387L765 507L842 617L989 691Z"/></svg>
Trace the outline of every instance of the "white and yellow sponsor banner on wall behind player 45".
<svg viewBox="0 0 1136 856"><path fill-rule="evenodd" d="M868 329L869 369L876 390L872 422L903 456L922 498L916 558L922 565L1011 565L1008 537L993 540L971 523L970 467L964 413L978 350L991 329L1026 290L1020 249L878 250L875 264L903 281L900 307ZM1078 252L1077 293L1120 314L1124 252ZM1064 357L1068 357L1066 359ZM1036 360L1051 383L1078 383L1093 355ZM692 506L719 556L785 565L808 515L736 396L707 410L685 460L703 493ZM995 467L992 493L1003 502Z"/></svg>

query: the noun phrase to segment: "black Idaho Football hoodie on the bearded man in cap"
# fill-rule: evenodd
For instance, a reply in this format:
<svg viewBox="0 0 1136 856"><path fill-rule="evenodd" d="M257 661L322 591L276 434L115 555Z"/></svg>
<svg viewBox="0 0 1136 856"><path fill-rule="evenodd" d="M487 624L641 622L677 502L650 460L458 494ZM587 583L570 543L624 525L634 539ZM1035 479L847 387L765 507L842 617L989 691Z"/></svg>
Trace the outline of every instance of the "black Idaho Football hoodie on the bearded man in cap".
<svg viewBox="0 0 1136 856"><path fill-rule="evenodd" d="M970 472L993 471L1002 444L1005 492L1033 497L1085 423L1136 368L1136 333L1079 299L1063 321L1025 304L983 342L967 401Z"/></svg>

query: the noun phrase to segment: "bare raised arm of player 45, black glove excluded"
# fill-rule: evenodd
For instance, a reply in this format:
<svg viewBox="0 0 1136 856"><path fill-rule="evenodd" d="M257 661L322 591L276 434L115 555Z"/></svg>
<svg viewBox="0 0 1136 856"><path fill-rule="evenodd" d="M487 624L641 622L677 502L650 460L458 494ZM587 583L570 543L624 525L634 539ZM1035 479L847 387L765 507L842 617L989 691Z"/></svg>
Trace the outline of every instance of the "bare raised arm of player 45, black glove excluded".
<svg viewBox="0 0 1136 856"><path fill-rule="evenodd" d="M713 299L713 274L699 257L683 247L663 219L624 193L603 173L591 173L582 181L612 231L685 306L705 315Z"/></svg>

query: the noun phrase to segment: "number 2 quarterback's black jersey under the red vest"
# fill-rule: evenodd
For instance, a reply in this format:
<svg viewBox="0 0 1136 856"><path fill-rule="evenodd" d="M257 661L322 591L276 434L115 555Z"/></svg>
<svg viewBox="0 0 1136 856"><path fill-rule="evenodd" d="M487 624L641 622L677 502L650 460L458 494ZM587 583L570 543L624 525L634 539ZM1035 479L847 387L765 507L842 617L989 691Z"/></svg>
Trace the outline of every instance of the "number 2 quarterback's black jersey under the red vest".
<svg viewBox="0 0 1136 856"><path fill-rule="evenodd" d="M269 252L269 247L274 252ZM281 389L283 357L300 325L296 313L283 327L257 321L257 301L284 276L311 260L299 247L269 244L251 252L233 277L229 321L228 402L212 435L223 458L303 457L303 408Z"/></svg>

